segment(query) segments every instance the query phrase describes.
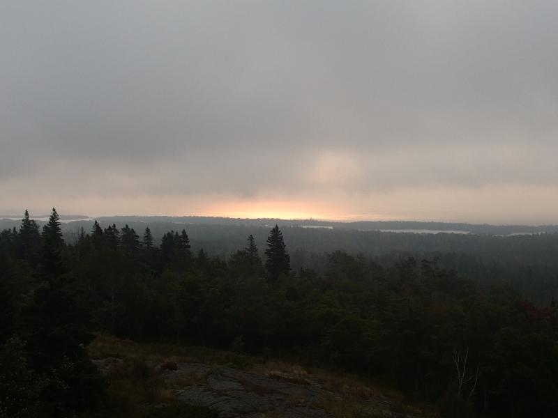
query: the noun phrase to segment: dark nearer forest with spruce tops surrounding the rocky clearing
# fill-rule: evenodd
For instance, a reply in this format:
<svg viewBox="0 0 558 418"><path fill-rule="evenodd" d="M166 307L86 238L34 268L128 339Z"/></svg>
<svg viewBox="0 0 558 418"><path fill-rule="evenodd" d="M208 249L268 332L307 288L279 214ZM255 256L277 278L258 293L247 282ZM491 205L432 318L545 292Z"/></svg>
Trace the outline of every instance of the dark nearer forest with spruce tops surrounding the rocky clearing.
<svg viewBox="0 0 558 418"><path fill-rule="evenodd" d="M558 415L554 234L505 251L502 237L446 235L424 251L352 254L340 241L289 254L275 226L265 247L250 233L223 256L185 229L135 228L93 222L70 241L52 210L42 229L26 211L0 233L0 417L106 416L107 383L85 350L99 331L360 373L443 417ZM456 240L499 250L489 260ZM506 277L519 269L537 278L536 298L524 273Z"/></svg>

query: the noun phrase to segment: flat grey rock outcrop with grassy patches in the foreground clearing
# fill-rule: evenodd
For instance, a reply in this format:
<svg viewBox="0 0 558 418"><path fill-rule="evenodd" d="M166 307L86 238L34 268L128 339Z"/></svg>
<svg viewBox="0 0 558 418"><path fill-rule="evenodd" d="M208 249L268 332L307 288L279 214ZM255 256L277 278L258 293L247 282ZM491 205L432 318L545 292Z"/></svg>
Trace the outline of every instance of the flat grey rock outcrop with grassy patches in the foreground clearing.
<svg viewBox="0 0 558 418"><path fill-rule="evenodd" d="M326 410L335 411L336 417L412 418L398 412L398 405L402 405L367 388L345 385L333 389L325 380L302 370L267 371L262 365L261 370L248 372L227 366L176 362L155 365L116 357L93 362L103 376L154 379L169 391L173 403L209 408L219 418L333 418ZM351 398L350 406L347 397ZM165 403L144 405L148 409L163 407Z"/></svg>

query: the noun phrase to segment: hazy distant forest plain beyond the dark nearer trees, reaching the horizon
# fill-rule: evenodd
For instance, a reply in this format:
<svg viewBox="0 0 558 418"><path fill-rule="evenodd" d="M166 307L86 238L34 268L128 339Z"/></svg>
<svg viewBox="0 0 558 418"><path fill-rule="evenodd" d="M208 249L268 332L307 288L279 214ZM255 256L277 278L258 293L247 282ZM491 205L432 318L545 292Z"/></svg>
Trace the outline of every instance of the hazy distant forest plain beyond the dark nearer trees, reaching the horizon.
<svg viewBox="0 0 558 418"><path fill-rule="evenodd" d="M93 227L93 221L75 220L78 217L67 216L61 224L68 244L73 245L79 240L82 229L89 232ZM45 224L43 221L37 223L39 228ZM153 240L157 243L167 231L186 229L192 251L204 249L205 254L218 257L221 261L228 261L237 249L243 247L248 235L252 235L259 247L263 248L269 229L278 223L289 243L291 267L295 272L301 268L312 269L323 276L326 274L329 254L338 250L352 256L366 256L384 267L393 267L408 257L418 260L427 258L437 259L440 268L456 270L481 284L509 284L526 300L541 306L548 307L552 297L558 297L558 233L552 232L556 230L552 226L535 228L434 222L340 223L312 219L285 221L213 217L102 217L98 223L103 229L113 224L119 227L128 224L140 233L149 225ZM13 229L14 226L20 228L19 219L0 219L0 230ZM367 230L359 230L356 226ZM414 227L424 231L432 228L437 231L462 229L472 233L368 231L374 227L391 227L393 230ZM514 231L532 233L495 235ZM263 256L263 252L260 255Z"/></svg>

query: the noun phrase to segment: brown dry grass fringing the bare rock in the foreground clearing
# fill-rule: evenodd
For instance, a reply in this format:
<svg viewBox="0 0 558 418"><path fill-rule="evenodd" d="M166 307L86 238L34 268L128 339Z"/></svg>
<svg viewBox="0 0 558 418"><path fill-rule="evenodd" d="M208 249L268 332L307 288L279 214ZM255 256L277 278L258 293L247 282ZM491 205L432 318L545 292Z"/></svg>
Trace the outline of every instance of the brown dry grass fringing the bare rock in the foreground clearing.
<svg viewBox="0 0 558 418"><path fill-rule="evenodd" d="M165 362L202 363L215 368L229 366L297 385L319 382L319 385L331 392L332 396L315 406L331 413L334 417L376 418L384 417L389 412L426 416L418 408L407 405L400 392L380 387L370 380L347 373L332 373L324 369L312 368L307 371L299 364L275 359L262 359L199 347L136 343L108 334L98 334L88 347L88 352L94 359L107 357L123 359L122 364L115 366L108 376L110 405L114 413L106 415L107 417L146 417L148 415L145 415L141 405L172 405L174 389L206 384L204 373L193 372L186 376L181 373L166 379L154 375L153 368ZM260 387L248 380L239 382L251 392L265 394L270 392L269 388ZM287 400L292 405L306 405L306 400L301 397L292 396ZM276 411L268 412L265 416L280 418L282 414Z"/></svg>

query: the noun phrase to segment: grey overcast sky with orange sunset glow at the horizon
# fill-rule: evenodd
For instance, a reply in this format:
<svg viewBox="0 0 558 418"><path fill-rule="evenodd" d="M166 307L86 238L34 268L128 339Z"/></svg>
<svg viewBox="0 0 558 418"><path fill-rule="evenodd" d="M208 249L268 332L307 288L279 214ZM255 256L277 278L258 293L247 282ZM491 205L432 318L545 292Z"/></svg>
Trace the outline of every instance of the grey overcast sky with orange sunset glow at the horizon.
<svg viewBox="0 0 558 418"><path fill-rule="evenodd" d="M0 2L0 212L558 223L558 1Z"/></svg>

